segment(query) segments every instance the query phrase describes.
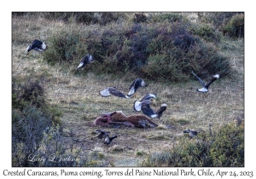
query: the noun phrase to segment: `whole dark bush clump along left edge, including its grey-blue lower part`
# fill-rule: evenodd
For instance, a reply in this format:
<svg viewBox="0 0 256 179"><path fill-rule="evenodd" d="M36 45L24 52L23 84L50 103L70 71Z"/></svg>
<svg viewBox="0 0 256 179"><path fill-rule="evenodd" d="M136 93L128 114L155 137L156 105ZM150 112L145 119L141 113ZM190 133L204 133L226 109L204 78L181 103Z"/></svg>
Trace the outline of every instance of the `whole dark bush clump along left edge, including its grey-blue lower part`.
<svg viewBox="0 0 256 179"><path fill-rule="evenodd" d="M43 139L43 131L51 124L60 124L60 114L51 113L54 107L46 102L42 78L34 74L12 79L12 153L13 165L20 166L20 153L24 161L34 154ZM28 166L27 163L23 164Z"/></svg>

